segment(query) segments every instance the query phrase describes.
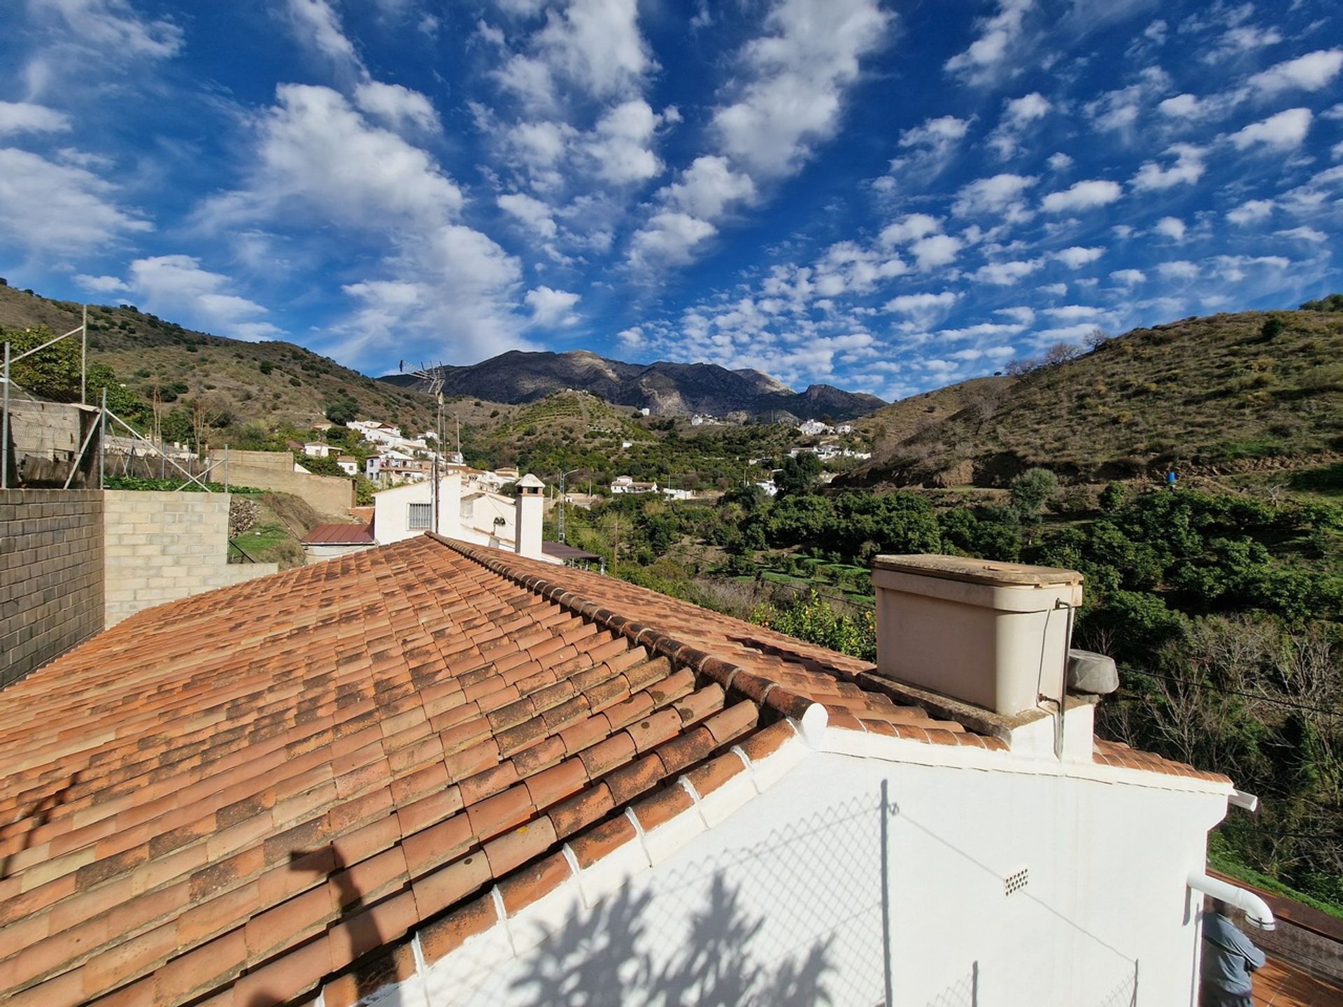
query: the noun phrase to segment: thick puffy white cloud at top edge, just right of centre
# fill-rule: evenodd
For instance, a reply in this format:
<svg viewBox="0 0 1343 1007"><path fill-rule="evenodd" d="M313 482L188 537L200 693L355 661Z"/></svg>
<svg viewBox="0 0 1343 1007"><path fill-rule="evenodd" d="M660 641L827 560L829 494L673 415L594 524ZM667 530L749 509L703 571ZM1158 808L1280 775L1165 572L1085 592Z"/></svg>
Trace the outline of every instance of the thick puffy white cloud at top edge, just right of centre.
<svg viewBox="0 0 1343 1007"><path fill-rule="evenodd" d="M796 171L834 134L843 90L889 19L876 0L778 0L770 34L743 50L740 97L713 113L720 150L759 175Z"/></svg>

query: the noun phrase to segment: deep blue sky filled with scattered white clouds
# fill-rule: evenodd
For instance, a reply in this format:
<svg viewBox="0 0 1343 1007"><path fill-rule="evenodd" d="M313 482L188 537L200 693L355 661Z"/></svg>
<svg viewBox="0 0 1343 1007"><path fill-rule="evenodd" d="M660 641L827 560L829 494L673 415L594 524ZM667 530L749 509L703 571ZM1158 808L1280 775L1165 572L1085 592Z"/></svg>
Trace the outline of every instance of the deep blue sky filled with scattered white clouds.
<svg viewBox="0 0 1343 1007"><path fill-rule="evenodd" d="M1343 290L1334 0L11 0L0 274L886 399Z"/></svg>

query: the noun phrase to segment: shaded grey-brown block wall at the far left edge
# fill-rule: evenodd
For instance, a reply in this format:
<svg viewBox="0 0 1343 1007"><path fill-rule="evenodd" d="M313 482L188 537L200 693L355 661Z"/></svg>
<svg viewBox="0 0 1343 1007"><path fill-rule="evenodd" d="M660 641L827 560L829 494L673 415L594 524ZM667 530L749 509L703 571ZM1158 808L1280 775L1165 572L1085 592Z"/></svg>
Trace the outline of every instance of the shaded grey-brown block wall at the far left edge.
<svg viewBox="0 0 1343 1007"><path fill-rule="evenodd" d="M102 630L99 490L0 490L0 686Z"/></svg>

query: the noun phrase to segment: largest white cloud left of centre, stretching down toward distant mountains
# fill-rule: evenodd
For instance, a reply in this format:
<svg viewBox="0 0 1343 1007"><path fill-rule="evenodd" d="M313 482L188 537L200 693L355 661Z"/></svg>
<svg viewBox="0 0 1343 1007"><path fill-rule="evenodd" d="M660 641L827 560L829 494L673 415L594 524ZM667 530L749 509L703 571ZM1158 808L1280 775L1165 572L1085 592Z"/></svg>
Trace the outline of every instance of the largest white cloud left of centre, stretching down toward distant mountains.
<svg viewBox="0 0 1343 1007"><path fill-rule="evenodd" d="M466 361L526 345L518 260L457 222L462 192L426 150L371 125L338 93L281 85L240 161L243 187L203 208L207 227L305 228L317 218L384 252L372 275L342 287L357 305L326 326L332 356L360 364L396 345Z"/></svg>

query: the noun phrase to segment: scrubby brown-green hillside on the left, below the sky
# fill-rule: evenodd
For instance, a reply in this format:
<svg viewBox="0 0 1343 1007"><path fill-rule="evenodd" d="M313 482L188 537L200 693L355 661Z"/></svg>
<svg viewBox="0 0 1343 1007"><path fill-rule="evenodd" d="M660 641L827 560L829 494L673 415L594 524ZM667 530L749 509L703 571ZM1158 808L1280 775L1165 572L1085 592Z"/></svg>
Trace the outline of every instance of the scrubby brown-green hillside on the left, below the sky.
<svg viewBox="0 0 1343 1007"><path fill-rule="evenodd" d="M78 325L77 303L0 287L0 328L47 326L60 334ZM291 342L210 336L129 306L90 305L89 358L110 367L145 403L157 388L165 412L203 403L216 431L252 420L306 428L349 400L359 415L408 431L432 426L432 400L415 389L375 381ZM226 440L216 432L212 443Z"/></svg>

